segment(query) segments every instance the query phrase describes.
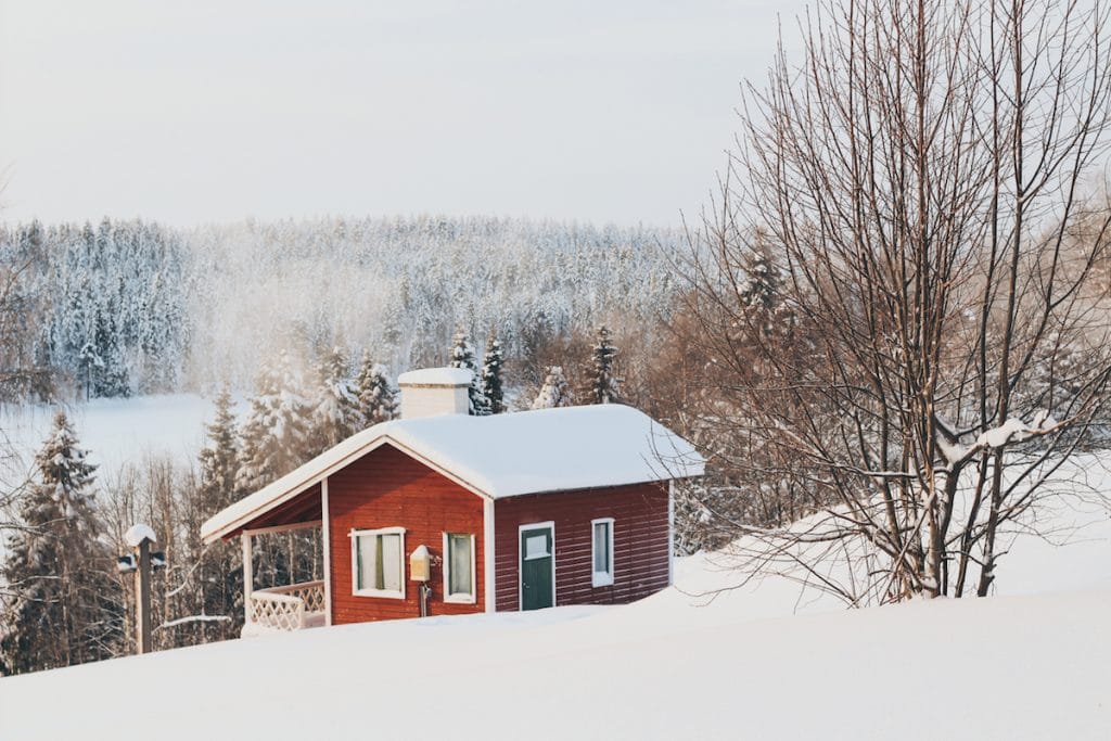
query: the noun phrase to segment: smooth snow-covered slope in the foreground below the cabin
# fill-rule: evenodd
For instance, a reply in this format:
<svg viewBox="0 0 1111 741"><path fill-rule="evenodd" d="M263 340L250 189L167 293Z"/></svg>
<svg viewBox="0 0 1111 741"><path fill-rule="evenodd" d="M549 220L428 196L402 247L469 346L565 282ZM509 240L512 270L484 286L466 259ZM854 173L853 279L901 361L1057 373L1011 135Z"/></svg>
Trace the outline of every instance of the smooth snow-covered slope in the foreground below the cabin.
<svg viewBox="0 0 1111 741"><path fill-rule="evenodd" d="M1081 461L1081 467L1098 461ZM728 557L621 608L347 625L0 680L0 739L1104 739L1111 520L1020 535L1000 594L844 611Z"/></svg>

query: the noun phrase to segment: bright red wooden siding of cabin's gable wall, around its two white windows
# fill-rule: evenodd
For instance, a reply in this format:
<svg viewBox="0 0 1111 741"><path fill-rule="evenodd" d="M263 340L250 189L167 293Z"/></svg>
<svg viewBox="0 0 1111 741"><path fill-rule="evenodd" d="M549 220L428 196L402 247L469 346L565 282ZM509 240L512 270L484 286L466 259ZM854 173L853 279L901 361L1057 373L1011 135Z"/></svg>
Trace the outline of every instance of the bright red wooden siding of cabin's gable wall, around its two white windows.
<svg viewBox="0 0 1111 741"><path fill-rule="evenodd" d="M476 602L443 602L442 563L432 565L431 614L484 610L482 498L450 479L382 445L328 478L332 580L332 623L420 615L417 584L409 581L409 554L423 543L443 557L443 533L474 535ZM351 589L351 530L406 529L406 599L356 597Z"/></svg>

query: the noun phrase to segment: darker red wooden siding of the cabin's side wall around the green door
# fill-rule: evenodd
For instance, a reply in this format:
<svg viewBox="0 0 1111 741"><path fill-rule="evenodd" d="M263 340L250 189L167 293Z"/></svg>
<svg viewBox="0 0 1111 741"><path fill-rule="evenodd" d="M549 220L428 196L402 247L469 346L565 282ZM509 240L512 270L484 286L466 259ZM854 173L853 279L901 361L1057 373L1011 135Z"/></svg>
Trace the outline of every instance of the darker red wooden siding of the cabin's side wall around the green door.
<svg viewBox="0 0 1111 741"><path fill-rule="evenodd" d="M613 518L613 584L591 587L590 521ZM494 503L499 611L519 608L519 527L556 522L556 604L620 604L668 585L668 484L529 494Z"/></svg>

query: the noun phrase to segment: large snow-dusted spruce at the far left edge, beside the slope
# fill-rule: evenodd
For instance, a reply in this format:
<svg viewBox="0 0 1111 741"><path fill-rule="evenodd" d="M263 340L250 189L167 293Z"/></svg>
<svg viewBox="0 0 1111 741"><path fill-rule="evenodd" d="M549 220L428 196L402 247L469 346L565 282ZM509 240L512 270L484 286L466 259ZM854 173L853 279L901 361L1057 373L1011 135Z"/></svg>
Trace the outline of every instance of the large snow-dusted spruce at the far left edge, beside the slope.
<svg viewBox="0 0 1111 741"><path fill-rule="evenodd" d="M107 659L122 645L123 595L100 538L96 467L86 454L59 412L7 544L0 652L13 673Z"/></svg>

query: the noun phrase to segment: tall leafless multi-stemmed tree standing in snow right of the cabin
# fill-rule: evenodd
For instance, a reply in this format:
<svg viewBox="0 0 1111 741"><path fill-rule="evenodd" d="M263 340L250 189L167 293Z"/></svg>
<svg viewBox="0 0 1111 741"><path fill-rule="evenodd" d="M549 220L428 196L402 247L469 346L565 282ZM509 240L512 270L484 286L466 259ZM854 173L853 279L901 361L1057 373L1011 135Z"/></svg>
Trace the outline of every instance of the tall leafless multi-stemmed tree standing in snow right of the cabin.
<svg viewBox="0 0 1111 741"><path fill-rule="evenodd" d="M683 308L718 369L700 422L744 441L715 448L731 470L818 511L753 530L753 573L858 604L983 595L1107 402L1108 13L829 0L801 26L692 239ZM778 332L752 310L761 252Z"/></svg>

